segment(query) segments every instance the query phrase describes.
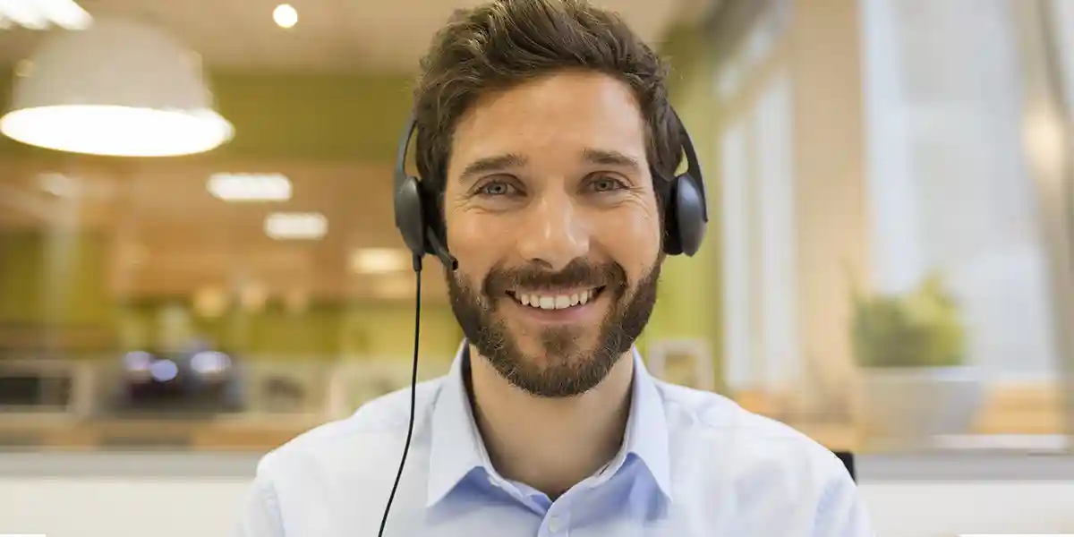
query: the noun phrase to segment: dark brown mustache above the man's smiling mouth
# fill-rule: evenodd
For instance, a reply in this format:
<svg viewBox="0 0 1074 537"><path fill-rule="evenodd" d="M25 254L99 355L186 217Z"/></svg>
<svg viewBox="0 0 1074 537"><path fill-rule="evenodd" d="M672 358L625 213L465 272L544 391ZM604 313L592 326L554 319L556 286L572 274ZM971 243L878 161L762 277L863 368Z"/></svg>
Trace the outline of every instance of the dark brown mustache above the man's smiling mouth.
<svg viewBox="0 0 1074 537"><path fill-rule="evenodd" d="M585 259L572 260L563 270L552 272L536 263L518 267L494 267L485 276L481 290L489 296L503 294L511 289L549 289L556 287L619 287L626 288L626 271L619 263L591 263Z"/></svg>

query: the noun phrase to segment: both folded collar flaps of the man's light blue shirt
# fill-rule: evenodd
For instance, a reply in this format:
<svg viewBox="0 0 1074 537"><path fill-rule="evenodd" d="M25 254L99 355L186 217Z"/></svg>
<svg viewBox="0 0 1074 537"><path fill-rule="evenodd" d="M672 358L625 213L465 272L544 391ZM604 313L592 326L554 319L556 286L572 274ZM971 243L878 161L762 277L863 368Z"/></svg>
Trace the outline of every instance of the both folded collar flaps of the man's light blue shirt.
<svg viewBox="0 0 1074 537"><path fill-rule="evenodd" d="M644 464L661 492L670 499L668 426L663 398L637 349L633 355L630 416L627 418L623 451ZM468 368L469 345L464 340L451 371L444 379L433 409L427 507L444 499L475 469L483 469L490 476L496 474L470 408L465 380Z"/></svg>

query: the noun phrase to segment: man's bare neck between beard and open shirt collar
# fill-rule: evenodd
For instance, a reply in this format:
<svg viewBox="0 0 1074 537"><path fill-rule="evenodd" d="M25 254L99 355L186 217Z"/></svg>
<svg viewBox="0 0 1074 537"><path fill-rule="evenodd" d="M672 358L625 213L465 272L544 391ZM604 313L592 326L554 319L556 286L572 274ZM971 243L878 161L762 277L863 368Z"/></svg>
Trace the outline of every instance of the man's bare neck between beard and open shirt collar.
<svg viewBox="0 0 1074 537"><path fill-rule="evenodd" d="M596 388L575 397L537 397L512 386L470 348L470 393L489 458L507 479L550 497L615 456L630 409L634 359L626 353Z"/></svg>

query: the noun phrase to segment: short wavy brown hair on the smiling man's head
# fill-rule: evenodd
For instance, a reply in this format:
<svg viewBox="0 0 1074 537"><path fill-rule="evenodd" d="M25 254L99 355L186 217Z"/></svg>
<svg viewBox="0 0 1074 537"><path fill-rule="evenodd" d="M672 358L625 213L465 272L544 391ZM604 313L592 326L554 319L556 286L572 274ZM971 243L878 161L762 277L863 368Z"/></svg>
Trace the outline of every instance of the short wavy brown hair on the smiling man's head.
<svg viewBox="0 0 1074 537"><path fill-rule="evenodd" d="M482 93L566 70L626 83L647 122L647 157L657 197L681 159L668 104L668 69L615 13L583 0L493 0L460 10L433 38L413 92L416 160L426 195L440 204L460 117ZM665 179L665 180L657 180Z"/></svg>

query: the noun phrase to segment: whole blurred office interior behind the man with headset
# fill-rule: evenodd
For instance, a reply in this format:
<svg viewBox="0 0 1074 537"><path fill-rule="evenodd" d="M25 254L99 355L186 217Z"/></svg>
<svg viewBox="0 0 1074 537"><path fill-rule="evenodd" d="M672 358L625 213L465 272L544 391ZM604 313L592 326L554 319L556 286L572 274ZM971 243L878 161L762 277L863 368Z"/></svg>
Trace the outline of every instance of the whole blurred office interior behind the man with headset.
<svg viewBox="0 0 1074 537"><path fill-rule="evenodd" d="M220 468L406 386L394 149L475 3L0 1L0 533L223 535ZM654 373L858 454L881 535L1074 533L1074 2L597 3L709 184ZM429 266L423 378L462 336Z"/></svg>

